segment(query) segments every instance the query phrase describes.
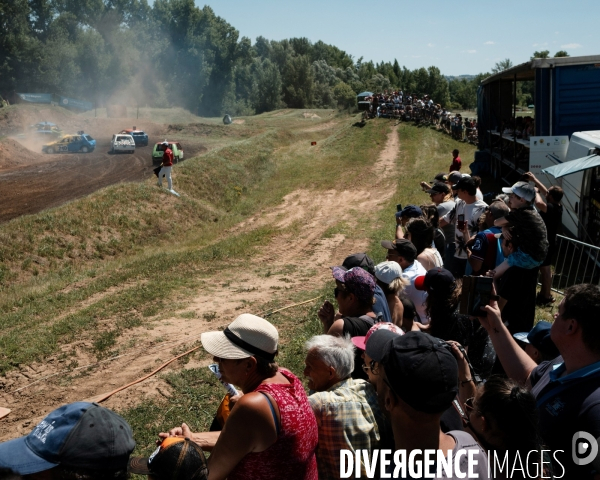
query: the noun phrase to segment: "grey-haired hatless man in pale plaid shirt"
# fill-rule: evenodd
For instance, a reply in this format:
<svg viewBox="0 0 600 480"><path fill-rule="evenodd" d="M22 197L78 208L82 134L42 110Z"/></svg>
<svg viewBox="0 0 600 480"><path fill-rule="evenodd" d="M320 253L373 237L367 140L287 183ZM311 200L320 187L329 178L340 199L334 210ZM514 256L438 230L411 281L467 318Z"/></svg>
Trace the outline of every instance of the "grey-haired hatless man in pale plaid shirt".
<svg viewBox="0 0 600 480"><path fill-rule="evenodd" d="M319 478L335 479L340 475L340 449L354 453L381 448L386 420L373 385L350 377L355 356L350 337L317 335L306 342L306 349L304 376L314 392L308 401L319 427ZM364 463L361 473L366 477Z"/></svg>

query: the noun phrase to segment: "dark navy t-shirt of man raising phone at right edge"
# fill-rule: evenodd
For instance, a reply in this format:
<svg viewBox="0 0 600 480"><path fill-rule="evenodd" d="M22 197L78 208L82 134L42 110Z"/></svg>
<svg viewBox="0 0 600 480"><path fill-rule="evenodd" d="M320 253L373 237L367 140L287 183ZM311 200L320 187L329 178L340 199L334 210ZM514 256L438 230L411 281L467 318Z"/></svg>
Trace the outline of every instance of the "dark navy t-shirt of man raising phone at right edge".
<svg viewBox="0 0 600 480"><path fill-rule="evenodd" d="M531 393L538 403L540 435L546 448L563 450L556 458L566 470L564 480L589 479L594 466L574 463L572 442L575 433L580 431L596 439L600 437L600 362L553 381L550 373L562 363L562 357L557 357L542 362L531 372ZM556 374L561 370L559 367ZM561 390L548 395L563 385ZM560 476L563 467L555 465L554 474Z"/></svg>

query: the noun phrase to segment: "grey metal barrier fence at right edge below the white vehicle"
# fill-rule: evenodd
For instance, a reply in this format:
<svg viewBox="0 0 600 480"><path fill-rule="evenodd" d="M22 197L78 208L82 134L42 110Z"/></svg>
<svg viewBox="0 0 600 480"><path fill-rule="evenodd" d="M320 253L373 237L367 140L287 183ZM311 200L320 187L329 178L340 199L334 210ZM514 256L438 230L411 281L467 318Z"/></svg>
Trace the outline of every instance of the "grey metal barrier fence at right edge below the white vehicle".
<svg viewBox="0 0 600 480"><path fill-rule="evenodd" d="M556 236L556 266L552 290L564 293L571 285L600 285L600 247L573 238Z"/></svg>

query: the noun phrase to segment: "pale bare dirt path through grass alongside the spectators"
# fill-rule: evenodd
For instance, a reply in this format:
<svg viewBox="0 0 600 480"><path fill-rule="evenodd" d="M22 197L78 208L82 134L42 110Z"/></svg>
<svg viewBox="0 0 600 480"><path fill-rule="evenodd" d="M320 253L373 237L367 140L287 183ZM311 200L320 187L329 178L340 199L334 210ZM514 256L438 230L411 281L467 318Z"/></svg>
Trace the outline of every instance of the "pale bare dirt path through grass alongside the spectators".
<svg viewBox="0 0 600 480"><path fill-rule="evenodd" d="M12 412L0 421L0 441L26 435L32 425L61 404L95 400L105 392L139 379L149 366L158 366L172 357L173 348L177 347L179 351L191 348L201 332L226 325L248 303L260 304L281 298L289 304L290 293L314 289L331 279L329 266L339 265L346 255L364 251L367 247L368 239L359 233L357 218L352 212L354 209L377 211L389 201L394 193L398 151L399 138L393 130L372 167L374 182L366 190L297 190L284 197L279 206L257 213L234 227L232 231L240 232L271 225L275 231L283 232L290 222L298 221L303 225L301 232L293 238L289 233L274 237L248 262L243 272L227 269L214 272L205 279L206 287L196 298L187 302L182 310L172 312L172 316L153 325L152 329L145 325L127 331L119 339L122 356L98 363L89 345L75 341L61 347L61 351L71 352L68 360L75 360L79 365L76 371L69 370L67 359L58 353L1 377L0 406L10 408ZM124 155L122 159L128 157ZM117 157L119 159L121 157ZM340 210L340 204L346 208ZM293 212L293 216L289 212ZM343 234L324 236L327 229L338 222L347 223L355 234L350 237ZM290 249L291 241L294 242L293 249ZM260 274L265 265L273 271L268 277ZM293 275L286 273L290 269ZM109 294L110 291L105 293ZM182 311L196 315L194 318L182 316ZM202 320L203 312L213 312L215 320ZM126 347L130 342L136 346ZM73 356L72 352L77 353ZM185 368L201 365L194 359ZM181 366L172 364L167 371L173 368ZM119 411L137 405L144 398L159 395L170 398L174 393L157 375L112 396L103 404Z"/></svg>

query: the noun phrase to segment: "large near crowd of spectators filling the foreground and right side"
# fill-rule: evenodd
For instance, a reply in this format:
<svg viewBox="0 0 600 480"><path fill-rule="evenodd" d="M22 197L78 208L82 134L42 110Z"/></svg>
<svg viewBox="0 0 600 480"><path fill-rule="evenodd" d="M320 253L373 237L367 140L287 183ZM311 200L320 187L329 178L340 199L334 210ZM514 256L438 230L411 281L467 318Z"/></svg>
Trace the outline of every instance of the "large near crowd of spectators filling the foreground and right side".
<svg viewBox="0 0 600 480"><path fill-rule="evenodd" d="M536 286L556 253L562 191L527 174L487 204L458 151L451 165L421 184L429 201L397 207L395 238L381 241L386 261L362 252L331 267L335 305L321 305L322 332L305 345L308 393L276 363L277 328L242 314L201 335L221 380L241 390L222 429L192 432L182 418L157 432L149 458L130 458L125 420L74 403L0 444L2 476L330 479L347 450L362 452L352 460L361 478L398 478L376 457L371 476L370 453L434 449L462 472L476 459L478 478L595 478L572 442L600 436L600 287L569 287L554 322L534 325L536 302L555 301ZM461 308L465 276L493 282L478 311ZM500 459L492 471L489 458Z"/></svg>

